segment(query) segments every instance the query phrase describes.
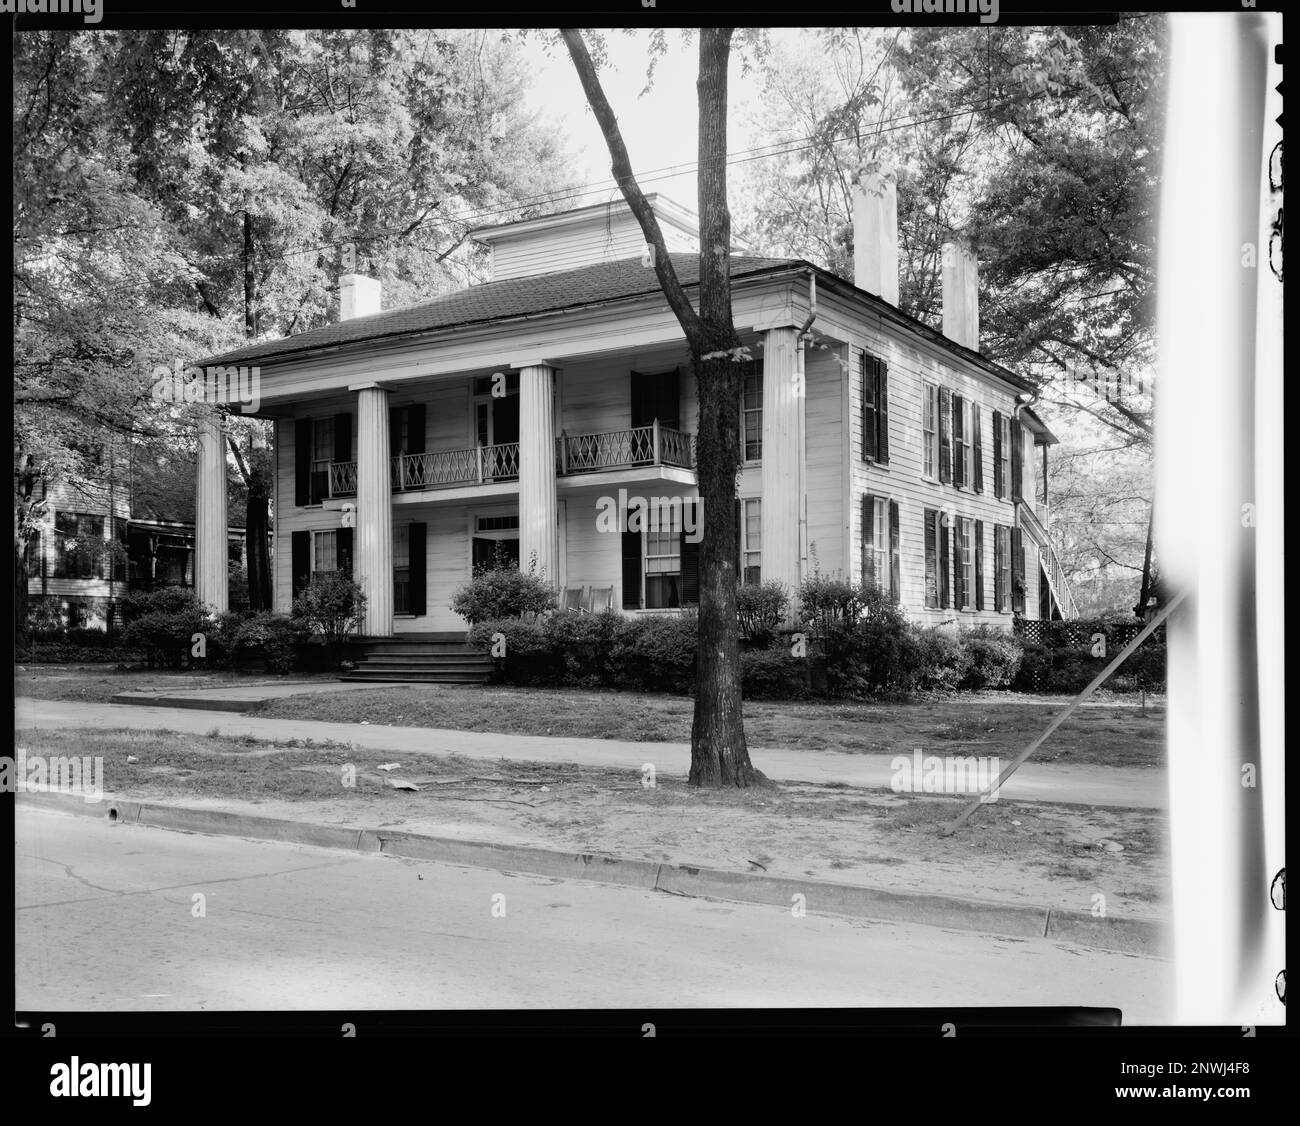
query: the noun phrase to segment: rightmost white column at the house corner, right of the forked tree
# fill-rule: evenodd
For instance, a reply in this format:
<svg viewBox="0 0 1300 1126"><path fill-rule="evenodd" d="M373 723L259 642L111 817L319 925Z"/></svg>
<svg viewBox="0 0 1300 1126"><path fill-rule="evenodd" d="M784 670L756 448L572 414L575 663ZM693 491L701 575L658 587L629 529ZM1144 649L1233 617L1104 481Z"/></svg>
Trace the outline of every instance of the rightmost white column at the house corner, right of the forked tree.
<svg viewBox="0 0 1300 1126"><path fill-rule="evenodd" d="M803 493L803 385L798 330L768 329L763 343L763 581L800 585L800 507Z"/></svg>

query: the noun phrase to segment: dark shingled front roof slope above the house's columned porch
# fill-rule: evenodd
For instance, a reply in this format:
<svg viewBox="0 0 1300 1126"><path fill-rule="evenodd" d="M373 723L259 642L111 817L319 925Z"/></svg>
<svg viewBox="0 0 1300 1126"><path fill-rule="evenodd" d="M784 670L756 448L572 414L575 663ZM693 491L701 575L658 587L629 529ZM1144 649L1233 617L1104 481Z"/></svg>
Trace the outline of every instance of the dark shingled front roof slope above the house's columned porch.
<svg viewBox="0 0 1300 1126"><path fill-rule="evenodd" d="M671 257L677 280L684 286L698 285L698 255L675 254ZM796 259L732 257L732 277L746 277L796 264ZM641 265L638 257L623 259L559 273L469 286L399 309L387 309L368 317L321 325L317 329L308 329L280 341L247 345L204 360L204 365L264 363L313 348L484 324L530 313L560 312L580 306L656 293L659 293L659 280L655 272Z"/></svg>

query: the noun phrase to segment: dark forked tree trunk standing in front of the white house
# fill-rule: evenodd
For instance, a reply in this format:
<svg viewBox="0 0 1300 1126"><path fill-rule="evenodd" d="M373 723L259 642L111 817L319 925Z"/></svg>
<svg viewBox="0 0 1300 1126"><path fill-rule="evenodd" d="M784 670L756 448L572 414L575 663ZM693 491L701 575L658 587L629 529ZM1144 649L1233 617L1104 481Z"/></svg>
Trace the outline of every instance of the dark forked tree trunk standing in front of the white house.
<svg viewBox="0 0 1300 1126"><path fill-rule="evenodd" d="M582 35L562 33L588 104L599 122L614 179L654 247L659 286L690 348L699 400L696 439L703 540L699 550L699 644L690 728L692 785L766 783L749 761L741 714L740 627L736 616L736 473L741 465L740 387L745 350L732 320L731 211L727 204L727 70L732 29L699 33L699 308L686 296L663 231L646 202L619 122Z"/></svg>

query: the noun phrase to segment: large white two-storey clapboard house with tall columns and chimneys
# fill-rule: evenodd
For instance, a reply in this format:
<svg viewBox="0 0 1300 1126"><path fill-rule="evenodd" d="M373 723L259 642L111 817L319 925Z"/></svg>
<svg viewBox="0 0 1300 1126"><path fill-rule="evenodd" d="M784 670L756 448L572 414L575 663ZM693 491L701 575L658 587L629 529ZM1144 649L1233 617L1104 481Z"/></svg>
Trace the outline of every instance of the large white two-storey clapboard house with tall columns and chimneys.
<svg viewBox="0 0 1300 1126"><path fill-rule="evenodd" d="M854 217L858 285L732 259L753 356L741 580L868 577L923 624L1069 616L1037 499L1037 455L1056 438L1028 410L1032 386L979 355L961 247L944 333L897 309L894 183L871 183ZM693 293L694 217L650 202ZM463 629L452 592L495 553L625 614L696 602L694 378L627 205L473 235L491 248L486 283L381 311L380 283L347 274L339 322L209 361L256 365L276 423L276 609L343 568L367 590L367 636ZM216 480L214 432L203 449L200 481ZM629 528L638 498L671 502L676 523Z"/></svg>

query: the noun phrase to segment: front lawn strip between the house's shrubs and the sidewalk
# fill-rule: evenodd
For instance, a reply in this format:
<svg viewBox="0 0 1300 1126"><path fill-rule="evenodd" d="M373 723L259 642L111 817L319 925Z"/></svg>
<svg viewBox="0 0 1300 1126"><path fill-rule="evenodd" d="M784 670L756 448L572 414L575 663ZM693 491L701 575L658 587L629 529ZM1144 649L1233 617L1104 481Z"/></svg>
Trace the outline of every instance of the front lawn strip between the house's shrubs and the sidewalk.
<svg viewBox="0 0 1300 1126"><path fill-rule="evenodd" d="M312 677L291 677L308 680ZM320 677L316 677L320 679ZM25 670L20 696L108 702L140 688L252 687L287 679L233 672L122 672L99 668ZM845 754L953 753L1014 757L1052 722L1063 700L1018 693L928 697L909 703L746 701L745 731L755 749ZM1040 748L1034 762L1154 767L1165 763L1165 707L1132 697L1079 709ZM408 684L273 700L269 719L393 724L498 735L689 742L694 701L686 696L563 688Z"/></svg>

